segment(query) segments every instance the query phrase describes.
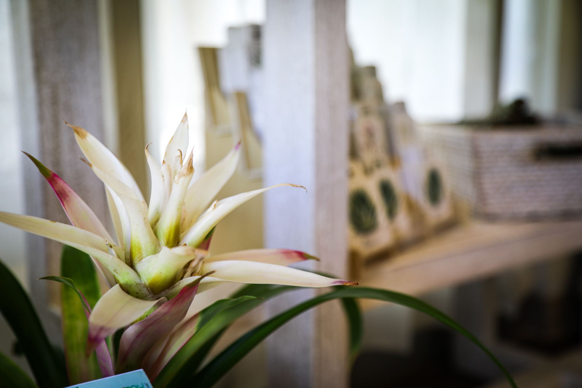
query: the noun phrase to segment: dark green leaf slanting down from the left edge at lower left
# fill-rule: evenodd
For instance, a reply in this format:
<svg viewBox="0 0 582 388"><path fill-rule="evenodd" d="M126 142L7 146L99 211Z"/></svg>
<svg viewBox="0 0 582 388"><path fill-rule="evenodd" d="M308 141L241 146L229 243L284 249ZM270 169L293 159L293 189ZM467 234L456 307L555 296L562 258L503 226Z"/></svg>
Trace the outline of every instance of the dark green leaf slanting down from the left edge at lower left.
<svg viewBox="0 0 582 388"><path fill-rule="evenodd" d="M5 297L0 298L0 311L18 338L38 386L68 386L66 371L59 364L26 291L1 261L0 284L6 290Z"/></svg>

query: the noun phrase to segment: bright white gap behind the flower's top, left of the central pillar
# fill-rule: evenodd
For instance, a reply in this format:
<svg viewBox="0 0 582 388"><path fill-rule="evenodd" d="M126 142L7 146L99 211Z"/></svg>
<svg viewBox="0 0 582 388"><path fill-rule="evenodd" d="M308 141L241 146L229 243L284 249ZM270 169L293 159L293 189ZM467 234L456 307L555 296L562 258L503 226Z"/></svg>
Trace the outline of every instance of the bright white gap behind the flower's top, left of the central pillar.
<svg viewBox="0 0 582 388"><path fill-rule="evenodd" d="M194 179L205 169L200 45L226 45L228 27L264 22L264 0L142 0L145 126L158 160L187 110ZM189 150L190 151L190 150Z"/></svg>

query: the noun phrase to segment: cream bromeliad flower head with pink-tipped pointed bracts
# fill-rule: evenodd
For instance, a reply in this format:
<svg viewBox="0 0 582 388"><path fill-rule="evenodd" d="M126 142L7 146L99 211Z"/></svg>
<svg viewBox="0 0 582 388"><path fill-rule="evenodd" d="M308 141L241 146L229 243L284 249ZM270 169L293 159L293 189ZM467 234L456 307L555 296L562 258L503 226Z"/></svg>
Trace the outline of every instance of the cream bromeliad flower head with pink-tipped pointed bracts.
<svg viewBox="0 0 582 388"><path fill-rule="evenodd" d="M92 312L87 311L90 314L88 350L99 351L105 346L104 338L126 327L120 342L117 372L139 368L144 359L159 371L179 349L179 344L189 338L191 323L182 320L196 292L225 282L300 287L354 284L286 267L314 259L299 251L253 249L210 256L212 231L230 211L278 186L303 187L280 184L210 204L235 171L239 144L190 185L194 168L192 153L184 157L188 146L188 121L184 115L166 147L161 166L145 147L151 172L147 206L136 181L111 151L83 128L69 126L87 164L105 184L116 238L109 235L69 185L29 154L26 155L51 184L73 225L4 212L0 212L0 221L73 246L91 256L111 288ZM132 326L127 328L128 325ZM160 343L160 338L168 333L179 335L172 334L175 340L166 338Z"/></svg>

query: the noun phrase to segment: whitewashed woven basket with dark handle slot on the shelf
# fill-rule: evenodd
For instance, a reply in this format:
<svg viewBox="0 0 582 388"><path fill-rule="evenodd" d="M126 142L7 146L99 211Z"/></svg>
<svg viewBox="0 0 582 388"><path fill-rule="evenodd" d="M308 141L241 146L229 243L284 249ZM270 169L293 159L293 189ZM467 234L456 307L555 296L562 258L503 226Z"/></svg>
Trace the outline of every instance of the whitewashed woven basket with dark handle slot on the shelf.
<svg viewBox="0 0 582 388"><path fill-rule="evenodd" d="M453 193L486 218L582 215L582 128L420 126Z"/></svg>

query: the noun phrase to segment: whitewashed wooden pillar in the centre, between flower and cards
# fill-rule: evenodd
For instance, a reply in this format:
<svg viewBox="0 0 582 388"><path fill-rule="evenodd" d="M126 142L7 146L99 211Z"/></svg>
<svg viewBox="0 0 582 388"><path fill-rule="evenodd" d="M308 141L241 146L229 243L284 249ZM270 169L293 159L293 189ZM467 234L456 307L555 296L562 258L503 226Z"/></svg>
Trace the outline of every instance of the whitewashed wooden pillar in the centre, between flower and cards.
<svg viewBox="0 0 582 388"><path fill-rule="evenodd" d="M349 57L343 0L268 0L264 29L265 246L300 249L308 269L347 276ZM316 295L272 301L271 314ZM268 340L271 386L346 387L347 331L339 303L294 319Z"/></svg>

